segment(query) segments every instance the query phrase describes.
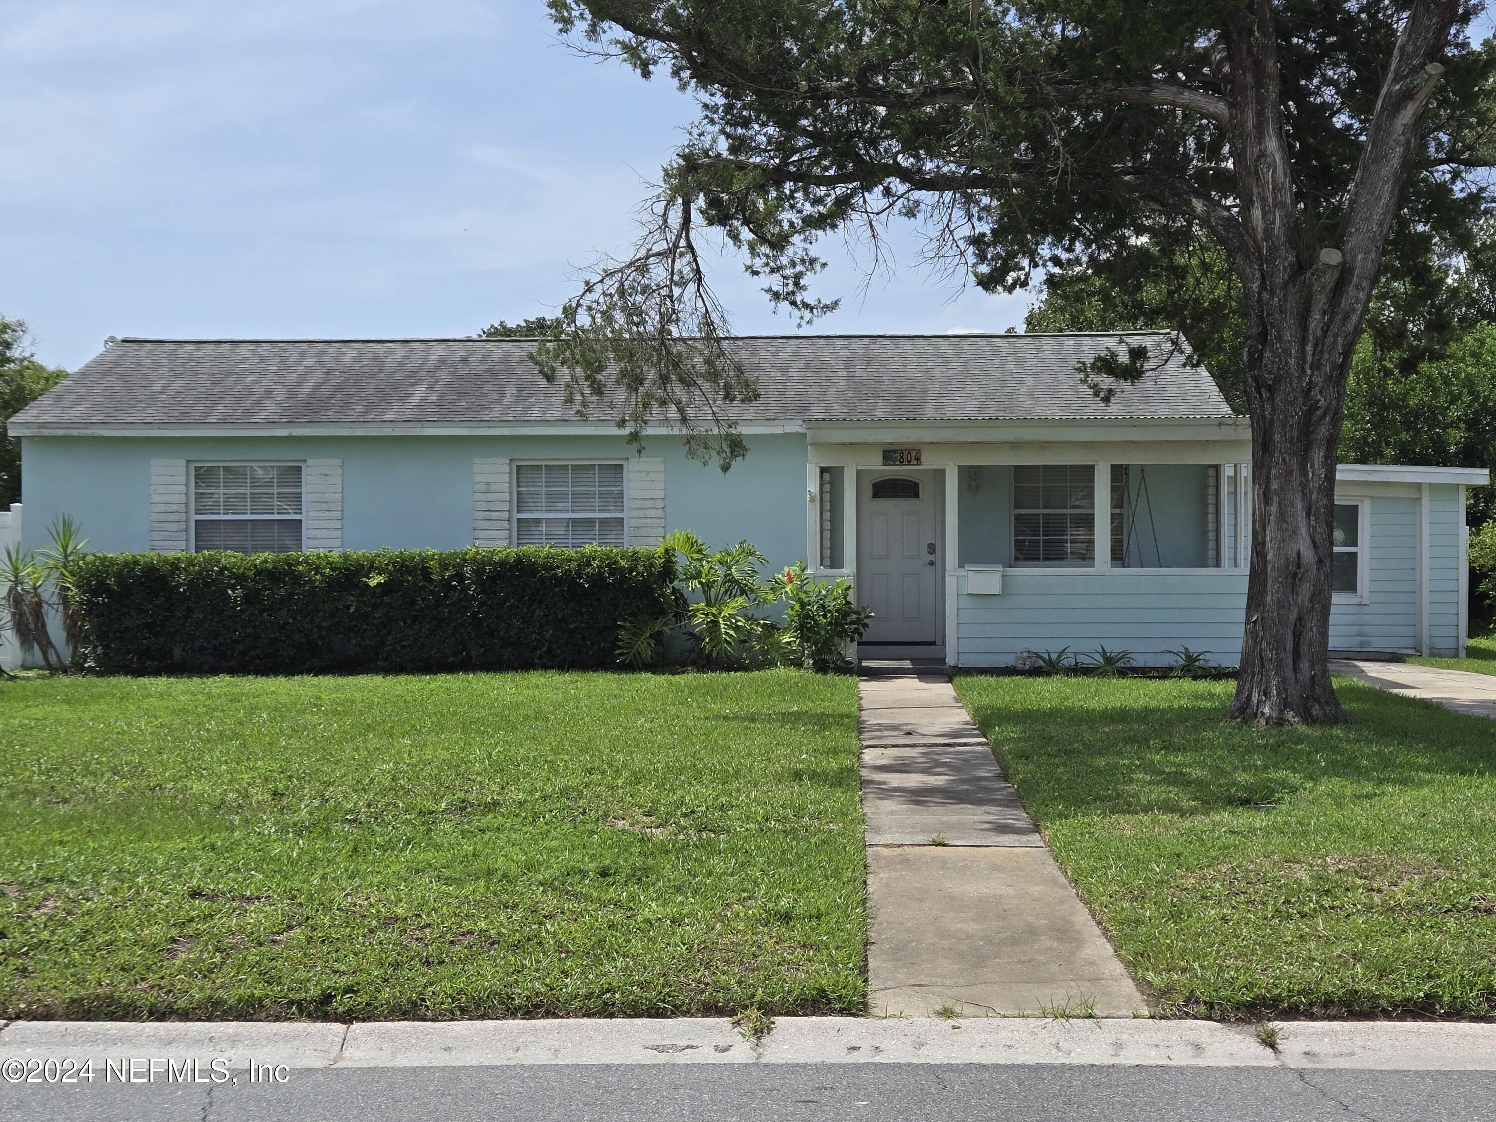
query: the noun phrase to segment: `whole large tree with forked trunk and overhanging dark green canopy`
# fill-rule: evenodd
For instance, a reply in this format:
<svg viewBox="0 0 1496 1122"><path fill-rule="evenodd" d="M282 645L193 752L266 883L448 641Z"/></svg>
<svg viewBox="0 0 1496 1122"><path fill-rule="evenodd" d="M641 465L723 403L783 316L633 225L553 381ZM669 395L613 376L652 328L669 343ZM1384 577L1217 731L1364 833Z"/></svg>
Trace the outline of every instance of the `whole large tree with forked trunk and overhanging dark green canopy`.
<svg viewBox="0 0 1496 1122"><path fill-rule="evenodd" d="M1233 714L1343 720L1330 534L1345 384L1399 220L1486 202L1487 57L1460 0L549 0L583 49L667 69L700 117L652 221L537 349L634 428L752 393L697 230L814 316L814 244L920 223L936 263L1013 290L1140 241L1209 238L1242 289L1254 534ZM1402 218L1399 218L1402 215ZM1137 377L1125 352L1088 371ZM741 452L717 425L726 455Z"/></svg>

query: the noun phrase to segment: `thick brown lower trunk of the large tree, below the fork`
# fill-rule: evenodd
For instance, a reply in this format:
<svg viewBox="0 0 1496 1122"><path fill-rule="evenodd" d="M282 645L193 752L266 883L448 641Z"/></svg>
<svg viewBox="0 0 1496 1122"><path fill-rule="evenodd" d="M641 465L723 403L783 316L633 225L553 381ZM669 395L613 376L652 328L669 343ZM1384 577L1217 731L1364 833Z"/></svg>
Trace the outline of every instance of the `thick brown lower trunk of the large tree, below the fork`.
<svg viewBox="0 0 1496 1122"><path fill-rule="evenodd" d="M1252 316L1252 540L1246 633L1231 717L1255 724L1345 721L1330 685L1334 470L1349 355L1316 353L1324 332L1302 275Z"/></svg>

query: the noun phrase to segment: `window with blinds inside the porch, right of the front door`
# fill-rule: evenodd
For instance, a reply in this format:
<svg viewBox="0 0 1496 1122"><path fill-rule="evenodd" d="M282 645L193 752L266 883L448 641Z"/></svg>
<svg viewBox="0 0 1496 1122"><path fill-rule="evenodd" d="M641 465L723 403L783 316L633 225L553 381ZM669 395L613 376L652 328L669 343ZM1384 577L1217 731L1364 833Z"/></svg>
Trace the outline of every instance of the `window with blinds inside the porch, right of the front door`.
<svg viewBox="0 0 1496 1122"><path fill-rule="evenodd" d="M1013 564L1089 565L1097 558L1092 464L1013 468Z"/></svg>

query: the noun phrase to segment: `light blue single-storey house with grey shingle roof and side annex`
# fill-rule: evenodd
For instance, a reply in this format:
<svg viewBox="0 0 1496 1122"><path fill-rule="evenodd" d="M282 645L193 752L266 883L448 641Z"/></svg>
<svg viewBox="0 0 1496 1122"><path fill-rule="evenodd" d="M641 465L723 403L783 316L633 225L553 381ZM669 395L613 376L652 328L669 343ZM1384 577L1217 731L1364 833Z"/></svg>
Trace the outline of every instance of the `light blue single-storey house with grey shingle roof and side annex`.
<svg viewBox="0 0 1496 1122"><path fill-rule="evenodd" d="M1083 359L1158 371L1098 401ZM845 574L863 657L1005 666L1098 645L1239 657L1248 420L1161 334L760 337L723 474L669 432L633 455L522 340L115 343L18 414L28 546L378 549L748 539ZM1465 495L1486 471L1339 473L1331 642L1463 654ZM1100 543L1100 546L1098 546Z"/></svg>

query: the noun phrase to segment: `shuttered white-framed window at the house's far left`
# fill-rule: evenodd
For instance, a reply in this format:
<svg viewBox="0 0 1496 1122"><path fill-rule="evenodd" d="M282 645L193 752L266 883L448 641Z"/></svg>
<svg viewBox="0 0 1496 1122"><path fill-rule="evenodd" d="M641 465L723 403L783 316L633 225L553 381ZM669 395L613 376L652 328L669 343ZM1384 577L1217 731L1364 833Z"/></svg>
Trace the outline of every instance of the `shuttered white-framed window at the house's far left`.
<svg viewBox="0 0 1496 1122"><path fill-rule="evenodd" d="M193 464L193 549L301 549L301 464Z"/></svg>

